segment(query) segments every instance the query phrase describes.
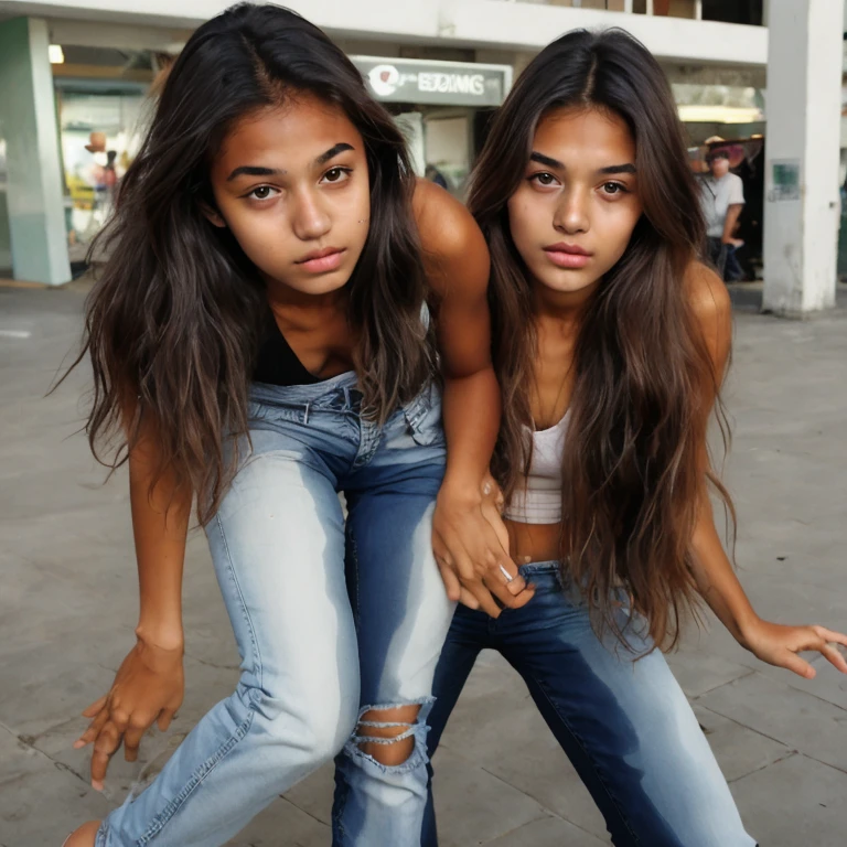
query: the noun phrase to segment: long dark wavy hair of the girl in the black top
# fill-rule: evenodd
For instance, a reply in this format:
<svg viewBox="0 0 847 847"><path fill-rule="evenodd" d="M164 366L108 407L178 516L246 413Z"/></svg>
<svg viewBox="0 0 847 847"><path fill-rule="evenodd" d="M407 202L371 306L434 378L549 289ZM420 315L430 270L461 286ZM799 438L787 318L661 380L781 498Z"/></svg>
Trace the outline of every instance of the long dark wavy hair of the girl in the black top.
<svg viewBox="0 0 847 847"><path fill-rule="evenodd" d="M237 467L225 441L247 433L248 386L268 315L255 267L228 229L203 214L203 204L214 207L210 163L242 117L303 92L341 107L366 149L371 225L347 282L364 414L385 420L431 373L415 176L400 131L317 26L280 7L233 7L192 35L167 76L115 215L92 248L107 258L75 362L90 354L86 431L95 455L106 441L117 449L105 463L119 467L142 420L152 422L161 455L153 485L167 470L191 486L202 523Z"/></svg>

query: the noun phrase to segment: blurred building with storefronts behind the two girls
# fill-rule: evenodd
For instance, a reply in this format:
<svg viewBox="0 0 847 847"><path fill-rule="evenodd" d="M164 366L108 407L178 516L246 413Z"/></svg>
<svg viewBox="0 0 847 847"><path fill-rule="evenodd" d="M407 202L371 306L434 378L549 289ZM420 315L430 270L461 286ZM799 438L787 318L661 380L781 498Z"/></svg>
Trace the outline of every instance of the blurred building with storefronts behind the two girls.
<svg viewBox="0 0 847 847"><path fill-rule="evenodd" d="M0 0L0 277L62 283L84 268L86 247L138 150L151 86L192 29L228 4ZM796 66L801 79L815 61L815 51L804 45L824 30L832 42L836 18L839 41L844 32L838 0L287 4L322 26L353 58L374 95L403 124L420 174L427 172L459 196L492 111L538 50L573 28L623 26L663 64L695 170L703 167L707 139L742 144L746 217L755 229L760 256L770 121L782 103L795 122L801 119L790 97L766 96L769 23L775 15L786 32L793 30L797 49L780 61ZM830 8L828 15L816 11L823 7ZM789 9L789 17L780 19L779 9ZM832 49L828 53L834 54ZM834 84L840 90L840 44L837 54ZM810 85L797 85L802 107L814 95ZM839 131L837 106L828 135ZM787 158L803 160L805 138L792 143L797 151ZM841 130L833 144L847 161L847 133ZM837 200L845 167L837 158L825 159ZM840 172L833 173L839 164Z"/></svg>

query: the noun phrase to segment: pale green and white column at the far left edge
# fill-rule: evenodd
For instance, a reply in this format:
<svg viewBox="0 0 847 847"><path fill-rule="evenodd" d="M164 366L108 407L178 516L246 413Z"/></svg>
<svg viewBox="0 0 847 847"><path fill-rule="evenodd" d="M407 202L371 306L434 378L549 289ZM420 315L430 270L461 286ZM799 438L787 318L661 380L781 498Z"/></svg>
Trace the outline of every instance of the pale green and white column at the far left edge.
<svg viewBox="0 0 847 847"><path fill-rule="evenodd" d="M15 279L71 279L46 21L0 23L0 136L6 139Z"/></svg>

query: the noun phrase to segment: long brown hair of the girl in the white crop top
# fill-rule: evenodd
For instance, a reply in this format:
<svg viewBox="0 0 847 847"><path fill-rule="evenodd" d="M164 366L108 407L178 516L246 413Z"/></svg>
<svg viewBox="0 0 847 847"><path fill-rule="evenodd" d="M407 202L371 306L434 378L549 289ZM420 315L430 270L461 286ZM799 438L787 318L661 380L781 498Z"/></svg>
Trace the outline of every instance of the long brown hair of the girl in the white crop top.
<svg viewBox="0 0 847 847"><path fill-rule="evenodd" d="M585 587L596 620L622 635L613 597L623 586L654 642L672 646L699 599L690 546L715 398L725 444L728 428L722 374L715 374L684 282L705 229L676 107L658 63L620 30L570 32L536 56L500 109L473 173L469 207L491 250L504 401L493 470L506 496L528 470L537 350L532 280L506 204L539 120L561 107L626 121L643 204L624 255L580 315L562 459L562 567ZM731 514L727 492L709 467L705 472Z"/></svg>

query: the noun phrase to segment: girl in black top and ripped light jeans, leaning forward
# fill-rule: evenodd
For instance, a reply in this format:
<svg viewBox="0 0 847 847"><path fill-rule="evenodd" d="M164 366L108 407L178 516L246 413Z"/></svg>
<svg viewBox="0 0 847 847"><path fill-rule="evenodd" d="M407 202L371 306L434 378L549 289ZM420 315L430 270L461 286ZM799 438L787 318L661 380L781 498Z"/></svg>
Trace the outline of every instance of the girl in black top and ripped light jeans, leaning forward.
<svg viewBox="0 0 847 847"><path fill-rule="evenodd" d="M483 513L500 395L481 233L416 183L320 30L240 4L176 60L101 244L88 432L117 430L129 464L141 611L85 712L93 784L182 701L193 497L242 675L68 844L216 847L333 757L333 844L419 844L453 601L532 596Z"/></svg>

